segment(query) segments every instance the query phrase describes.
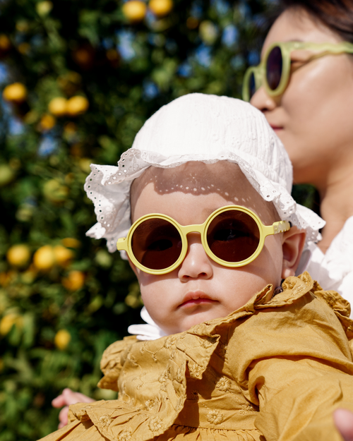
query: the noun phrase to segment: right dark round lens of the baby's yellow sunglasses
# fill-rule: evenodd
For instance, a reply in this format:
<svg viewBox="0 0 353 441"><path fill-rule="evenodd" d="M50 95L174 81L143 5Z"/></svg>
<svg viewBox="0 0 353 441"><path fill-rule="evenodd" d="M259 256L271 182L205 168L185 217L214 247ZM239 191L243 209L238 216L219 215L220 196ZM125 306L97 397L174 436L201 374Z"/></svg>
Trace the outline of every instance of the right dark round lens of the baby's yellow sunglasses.
<svg viewBox="0 0 353 441"><path fill-rule="evenodd" d="M210 223L207 241L217 258L241 262L255 253L260 231L252 217L244 212L229 210L220 213Z"/></svg>

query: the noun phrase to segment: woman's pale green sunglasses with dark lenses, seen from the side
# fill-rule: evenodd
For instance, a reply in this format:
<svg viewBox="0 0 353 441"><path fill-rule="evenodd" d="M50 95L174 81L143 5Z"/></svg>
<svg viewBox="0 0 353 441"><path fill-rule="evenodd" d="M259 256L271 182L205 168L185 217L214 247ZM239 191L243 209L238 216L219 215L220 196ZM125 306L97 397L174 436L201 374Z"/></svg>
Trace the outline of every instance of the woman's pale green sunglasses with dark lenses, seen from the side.
<svg viewBox="0 0 353 441"><path fill-rule="evenodd" d="M250 101L259 87L263 86L270 97L277 97L285 92L291 71L291 53L306 49L314 52L306 62L328 54L353 54L353 44L277 42L271 44L258 66L251 66L244 75L243 99Z"/></svg>

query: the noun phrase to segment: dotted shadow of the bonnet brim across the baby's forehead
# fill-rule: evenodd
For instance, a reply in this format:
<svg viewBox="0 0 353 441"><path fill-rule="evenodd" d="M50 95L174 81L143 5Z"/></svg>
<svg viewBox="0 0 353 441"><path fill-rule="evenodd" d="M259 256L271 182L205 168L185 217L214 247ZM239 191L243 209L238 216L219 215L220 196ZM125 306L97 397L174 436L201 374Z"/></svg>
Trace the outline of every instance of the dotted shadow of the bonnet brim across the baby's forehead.
<svg viewBox="0 0 353 441"><path fill-rule="evenodd" d="M217 193L229 205L245 205L255 211L263 222L279 220L275 207L251 186L238 164L217 161L205 164L191 161L172 168L150 167L131 186L131 205L145 186L151 184L156 193L167 195L180 192L192 195Z"/></svg>

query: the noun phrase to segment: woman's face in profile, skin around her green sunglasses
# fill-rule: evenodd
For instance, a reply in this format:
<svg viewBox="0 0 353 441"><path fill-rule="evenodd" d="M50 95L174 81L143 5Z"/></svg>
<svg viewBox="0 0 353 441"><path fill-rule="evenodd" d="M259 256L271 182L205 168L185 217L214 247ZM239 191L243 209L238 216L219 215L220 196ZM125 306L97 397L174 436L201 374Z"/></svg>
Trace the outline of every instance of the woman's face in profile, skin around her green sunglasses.
<svg viewBox="0 0 353 441"><path fill-rule="evenodd" d="M277 18L263 45L273 42L340 42L340 37L301 8L289 8ZM295 183L325 189L353 165L353 56L318 57L292 52L292 73L285 92L269 97L261 87L251 104L266 116L284 143L294 167ZM340 175L340 176L339 176Z"/></svg>

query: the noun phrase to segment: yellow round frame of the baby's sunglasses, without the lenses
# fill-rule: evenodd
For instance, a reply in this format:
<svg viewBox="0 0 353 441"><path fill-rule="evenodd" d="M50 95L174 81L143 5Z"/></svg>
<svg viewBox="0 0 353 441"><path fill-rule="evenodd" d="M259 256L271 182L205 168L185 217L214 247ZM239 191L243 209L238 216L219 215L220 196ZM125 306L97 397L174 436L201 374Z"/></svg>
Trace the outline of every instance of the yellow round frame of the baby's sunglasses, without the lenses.
<svg viewBox="0 0 353 441"><path fill-rule="evenodd" d="M256 251L249 258L245 260L241 260L240 262L227 262L227 260L222 260L220 258L217 258L217 256L213 254L213 252L210 250L210 247L208 246L208 242L207 242L207 231L208 231L208 226L210 226L210 223L213 221L213 219L215 219L215 217L220 215L220 213L227 211L234 211L234 210L246 213L246 215L249 215L256 222L258 226L258 230L260 232L260 238ZM162 270L152 270L148 267L145 267L140 262L138 262L138 260L135 258L135 255L133 255L133 249L131 247L131 240L133 237L133 233L136 230L136 228L140 224L145 222L145 220L147 219L167 220L177 229L181 237L181 252L179 258L176 260L176 262L174 262L173 265L170 265L169 267L164 268ZM254 212L249 210L249 208L241 207L240 205L227 205L225 207L218 208L213 213L211 213L210 216L208 216L208 218L205 220L205 222L203 222L203 224L194 224L194 225L186 225L186 226L180 225L176 220L174 220L172 217L169 217L167 215L152 213L150 215L145 215L143 217L140 217L140 219L137 219L136 222L134 222L131 228L128 230L128 234L126 238L123 237L118 239L118 241L116 242L116 248L119 251L121 250L126 251L126 253L128 253L128 257L130 258L131 262L133 262L133 265L136 265L136 267L138 267L143 272L147 272L148 274L167 274L167 272L172 272L177 267L179 267L179 265L181 265L181 262L184 260L188 250L187 234L200 233L201 243L208 257L210 257L213 261L217 262L222 266L236 268L236 267L242 267L244 265L248 265L250 262L252 262L258 257L258 255L261 253L261 250L263 249L265 238L267 236L288 231L290 227L291 226L288 221L279 221L279 222L274 222L272 225L264 225L261 222L258 215L256 215Z"/></svg>

